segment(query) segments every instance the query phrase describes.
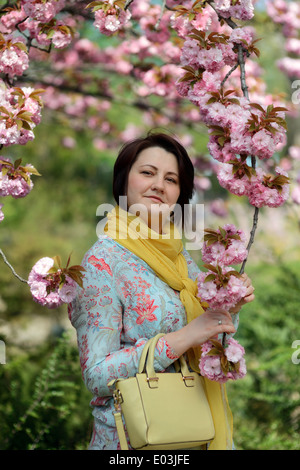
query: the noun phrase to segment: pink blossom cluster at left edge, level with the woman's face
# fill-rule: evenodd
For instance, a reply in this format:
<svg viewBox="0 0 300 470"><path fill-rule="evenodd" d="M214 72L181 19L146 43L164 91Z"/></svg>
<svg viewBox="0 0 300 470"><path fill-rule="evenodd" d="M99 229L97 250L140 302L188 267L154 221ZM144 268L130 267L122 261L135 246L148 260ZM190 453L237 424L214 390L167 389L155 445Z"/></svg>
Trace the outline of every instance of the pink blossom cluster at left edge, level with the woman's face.
<svg viewBox="0 0 300 470"><path fill-rule="evenodd" d="M9 158L0 157L0 196L15 199L27 196L33 188L31 174L38 174L31 164L23 167L13 164Z"/></svg>

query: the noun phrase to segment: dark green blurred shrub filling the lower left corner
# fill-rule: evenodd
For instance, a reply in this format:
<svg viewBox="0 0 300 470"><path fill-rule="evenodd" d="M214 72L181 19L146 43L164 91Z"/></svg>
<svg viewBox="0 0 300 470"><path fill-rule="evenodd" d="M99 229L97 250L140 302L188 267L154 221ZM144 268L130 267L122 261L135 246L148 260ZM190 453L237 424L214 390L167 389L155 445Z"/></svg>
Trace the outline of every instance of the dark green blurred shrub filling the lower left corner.
<svg viewBox="0 0 300 470"><path fill-rule="evenodd" d="M1 450L86 449L90 396L67 335L11 358L0 381Z"/></svg>

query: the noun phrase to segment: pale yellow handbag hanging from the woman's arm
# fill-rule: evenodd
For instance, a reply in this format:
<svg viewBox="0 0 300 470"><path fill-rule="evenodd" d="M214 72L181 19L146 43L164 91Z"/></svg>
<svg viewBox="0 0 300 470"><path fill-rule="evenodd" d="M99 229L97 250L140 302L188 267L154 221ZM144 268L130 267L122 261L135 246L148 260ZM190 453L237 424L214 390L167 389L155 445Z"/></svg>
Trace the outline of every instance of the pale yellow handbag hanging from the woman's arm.
<svg viewBox="0 0 300 470"><path fill-rule="evenodd" d="M122 450L128 450L122 415L136 450L189 449L214 438L202 377L189 371L183 357L176 361L175 372L155 372L154 350L161 336L146 343L134 377L109 384L115 385L114 417Z"/></svg>

